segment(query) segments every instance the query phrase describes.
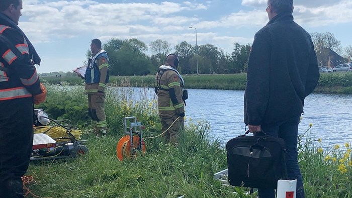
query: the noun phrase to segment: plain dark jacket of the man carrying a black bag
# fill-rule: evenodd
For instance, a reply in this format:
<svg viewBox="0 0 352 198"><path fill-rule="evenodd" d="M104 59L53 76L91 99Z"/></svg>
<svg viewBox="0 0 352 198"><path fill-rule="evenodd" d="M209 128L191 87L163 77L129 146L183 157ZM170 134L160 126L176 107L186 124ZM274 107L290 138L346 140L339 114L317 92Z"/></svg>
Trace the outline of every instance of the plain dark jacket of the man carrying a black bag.
<svg viewBox="0 0 352 198"><path fill-rule="evenodd" d="M303 112L304 98L319 80L310 35L283 13L254 37L244 94L246 125L270 125Z"/></svg>

